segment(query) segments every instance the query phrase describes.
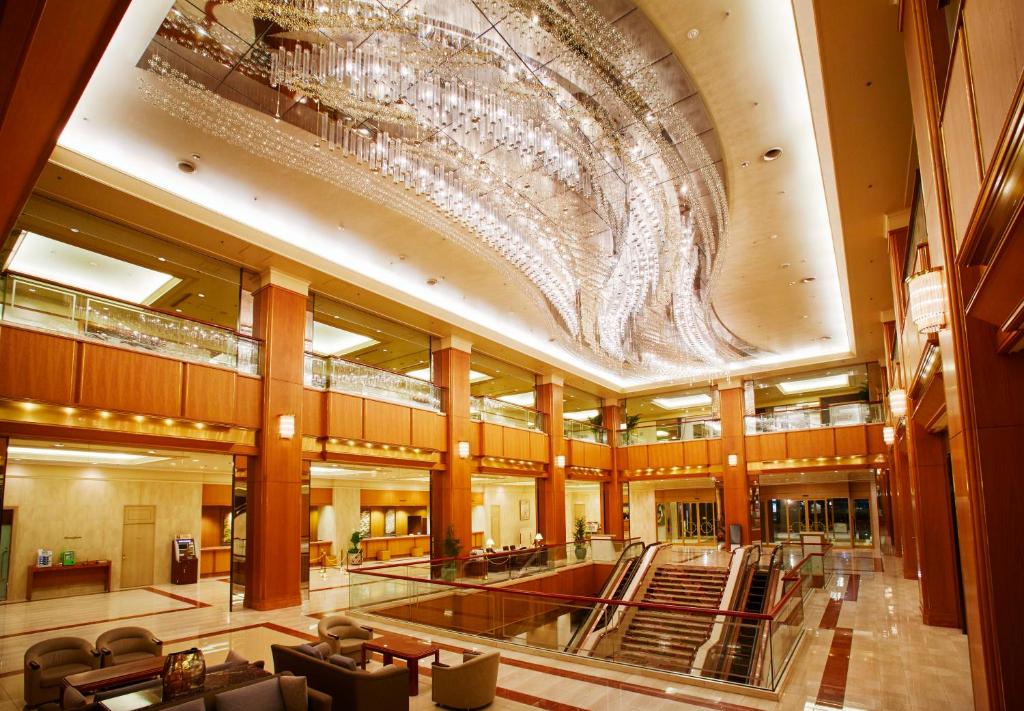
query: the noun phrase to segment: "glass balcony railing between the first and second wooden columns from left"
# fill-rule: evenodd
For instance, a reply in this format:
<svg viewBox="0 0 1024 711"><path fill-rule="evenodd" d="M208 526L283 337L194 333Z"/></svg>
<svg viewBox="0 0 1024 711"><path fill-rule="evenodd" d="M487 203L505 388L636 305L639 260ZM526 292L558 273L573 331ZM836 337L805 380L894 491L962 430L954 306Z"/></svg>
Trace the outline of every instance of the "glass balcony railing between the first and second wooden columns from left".
<svg viewBox="0 0 1024 711"><path fill-rule="evenodd" d="M341 358L306 353L306 387L441 412L441 388L426 380Z"/></svg>

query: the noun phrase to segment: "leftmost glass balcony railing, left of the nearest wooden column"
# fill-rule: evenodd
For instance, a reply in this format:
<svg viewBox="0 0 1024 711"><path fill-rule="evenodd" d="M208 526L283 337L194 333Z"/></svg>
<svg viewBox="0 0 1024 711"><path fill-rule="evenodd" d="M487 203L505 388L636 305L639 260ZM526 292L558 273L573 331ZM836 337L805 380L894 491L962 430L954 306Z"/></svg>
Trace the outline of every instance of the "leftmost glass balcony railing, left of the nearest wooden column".
<svg viewBox="0 0 1024 711"><path fill-rule="evenodd" d="M0 311L9 324L259 374L260 343L255 339L20 275L4 275Z"/></svg>

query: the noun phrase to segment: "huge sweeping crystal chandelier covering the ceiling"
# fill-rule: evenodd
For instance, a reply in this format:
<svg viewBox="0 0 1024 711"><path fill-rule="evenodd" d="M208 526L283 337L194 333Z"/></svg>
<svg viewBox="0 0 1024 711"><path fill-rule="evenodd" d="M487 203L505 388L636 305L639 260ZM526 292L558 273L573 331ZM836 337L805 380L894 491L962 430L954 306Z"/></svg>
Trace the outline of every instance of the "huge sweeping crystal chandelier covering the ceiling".
<svg viewBox="0 0 1024 711"><path fill-rule="evenodd" d="M721 175L664 70L586 0L205 8L178 0L140 61L154 104L482 253L605 367L753 354L711 301Z"/></svg>

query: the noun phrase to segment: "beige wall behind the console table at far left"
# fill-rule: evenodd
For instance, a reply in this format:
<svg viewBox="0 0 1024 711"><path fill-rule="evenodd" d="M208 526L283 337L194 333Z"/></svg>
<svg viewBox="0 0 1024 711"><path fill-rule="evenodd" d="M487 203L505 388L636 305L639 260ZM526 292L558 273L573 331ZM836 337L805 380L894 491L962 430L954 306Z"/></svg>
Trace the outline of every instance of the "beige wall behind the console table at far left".
<svg viewBox="0 0 1024 711"><path fill-rule="evenodd" d="M170 480L152 471L118 467L48 466L10 463L4 508L14 509L7 599L24 599L27 569L36 562L36 550L49 548L54 557L62 548L79 560L110 559L112 588L121 581L121 545L125 506L156 506L154 583L169 583L171 540L190 533L199 542L202 527L203 482ZM95 591L43 588L33 597L53 597Z"/></svg>

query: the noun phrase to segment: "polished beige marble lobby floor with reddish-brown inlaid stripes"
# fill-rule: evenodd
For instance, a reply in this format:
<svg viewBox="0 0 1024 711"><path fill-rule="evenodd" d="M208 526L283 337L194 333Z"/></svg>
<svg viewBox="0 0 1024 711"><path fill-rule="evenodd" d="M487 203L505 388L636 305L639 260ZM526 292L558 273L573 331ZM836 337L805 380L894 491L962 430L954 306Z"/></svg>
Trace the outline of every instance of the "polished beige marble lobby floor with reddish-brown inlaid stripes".
<svg viewBox="0 0 1024 711"><path fill-rule="evenodd" d="M865 555L867 556L865 558ZM879 570L882 569L882 570ZM778 701L666 681L645 670L609 670L562 657L502 650L494 709L970 709L967 637L921 623L918 585L904 580L898 558L870 552L837 559L824 590L804 611L805 635ZM140 625L167 651L201 647L210 663L229 649L270 666L272 643L295 644L316 633L323 613L348 607L348 576L314 572L308 601L269 613L227 610L228 585L158 585L113 593L0 604L0 711L22 708L25 650L41 639L74 635L94 639L112 627ZM403 630L375 620L379 630ZM413 632L423 635L422 630ZM458 663L464 649L483 640L430 634L441 661ZM429 672L426 665L424 672ZM432 709L430 678L421 676L413 709Z"/></svg>

